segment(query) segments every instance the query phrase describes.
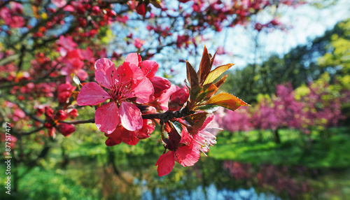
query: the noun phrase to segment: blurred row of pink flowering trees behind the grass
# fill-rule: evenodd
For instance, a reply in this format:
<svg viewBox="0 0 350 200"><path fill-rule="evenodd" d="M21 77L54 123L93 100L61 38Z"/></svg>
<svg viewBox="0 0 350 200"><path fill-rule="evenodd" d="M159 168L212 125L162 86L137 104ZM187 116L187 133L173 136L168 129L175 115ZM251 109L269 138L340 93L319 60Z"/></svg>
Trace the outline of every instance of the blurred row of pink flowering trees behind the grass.
<svg viewBox="0 0 350 200"><path fill-rule="evenodd" d="M308 89L306 95L296 99L289 84L277 85L276 96L272 99L260 99L255 106L235 112L218 110L220 117L216 121L228 131L288 127L309 133L311 127L337 125L343 118L341 105L344 98L332 97L328 85L320 87L310 83Z"/></svg>

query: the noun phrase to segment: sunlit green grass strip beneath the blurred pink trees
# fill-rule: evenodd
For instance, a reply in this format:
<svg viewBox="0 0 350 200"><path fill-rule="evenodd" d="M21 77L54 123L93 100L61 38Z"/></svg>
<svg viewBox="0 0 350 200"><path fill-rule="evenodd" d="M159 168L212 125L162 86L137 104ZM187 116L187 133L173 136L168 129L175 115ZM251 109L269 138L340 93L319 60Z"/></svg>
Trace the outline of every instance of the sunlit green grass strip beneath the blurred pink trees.
<svg viewBox="0 0 350 200"><path fill-rule="evenodd" d="M244 134L247 134L246 140L237 133L218 135L218 143L211 148L210 156L252 164L350 167L350 131L346 128L328 129L325 133L314 131L310 136L295 130L281 130L281 144L274 143L269 131L262 132L262 141L258 141L258 131Z"/></svg>

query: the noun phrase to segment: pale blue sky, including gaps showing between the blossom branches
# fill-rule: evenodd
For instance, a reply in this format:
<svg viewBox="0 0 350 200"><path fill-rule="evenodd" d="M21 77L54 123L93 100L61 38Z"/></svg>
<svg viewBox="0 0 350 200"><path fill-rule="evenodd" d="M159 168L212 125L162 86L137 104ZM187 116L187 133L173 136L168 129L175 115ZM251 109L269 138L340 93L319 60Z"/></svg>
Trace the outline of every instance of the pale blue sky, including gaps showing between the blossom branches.
<svg viewBox="0 0 350 200"><path fill-rule="evenodd" d="M223 29L220 33L211 31L209 34L204 35L207 41L198 45L197 50L199 54L197 57L188 57L186 50L180 50L175 53L173 48L165 48L160 54L152 58L160 64L158 76L162 76L164 71L169 72L169 66L171 66L177 73L172 78L172 81L174 83L183 83L183 80L186 78L186 64L183 62L179 63L179 57L184 59L188 57L188 61L197 69L200 64L204 44L207 45L211 53L214 53L219 46L224 46L228 55L218 56L217 59L223 64L235 63L232 69L241 69L247 64L254 62L260 64L272 54L278 54L282 57L291 48L310 43L316 36L322 36L326 30L332 29L337 22L350 17L349 0L309 0L312 3L329 3L330 1L335 1L335 5L322 9L311 6L308 3L297 8L279 6L276 9L272 7L264 10L253 19L263 24L272 20L273 17L279 17L279 20L286 27L289 27L284 31L276 29L269 32L261 31L258 34L258 31L253 29L253 27L241 27L239 25L234 28ZM177 3L175 4L174 6L177 6ZM134 17L137 16L135 14ZM130 49L120 45L130 32L133 32L134 36L145 40L146 44L151 44L152 41L148 41L151 38L142 31L143 29L146 29L146 25L138 20L128 22L127 27L113 26L112 30L116 36L114 38L115 43L111 43L109 49L117 50L117 52L124 52L125 49ZM133 51L132 49L130 50Z"/></svg>

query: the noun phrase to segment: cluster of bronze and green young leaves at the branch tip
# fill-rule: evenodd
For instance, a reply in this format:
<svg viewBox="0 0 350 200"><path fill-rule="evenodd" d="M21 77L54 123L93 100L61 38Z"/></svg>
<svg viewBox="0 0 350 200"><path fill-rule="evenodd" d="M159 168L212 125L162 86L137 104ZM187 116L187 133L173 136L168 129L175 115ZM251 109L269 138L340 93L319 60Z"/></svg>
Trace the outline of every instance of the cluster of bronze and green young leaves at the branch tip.
<svg viewBox="0 0 350 200"><path fill-rule="evenodd" d="M221 92L216 94L218 88L225 83L228 75L219 78L225 71L230 69L234 64L224 64L211 70L216 53L214 56L208 53L207 48L204 46L202 60L200 62L200 68L196 72L193 66L186 61L188 90L190 97L187 102L188 110L196 111L195 114L186 117L191 125L195 127L201 127L204 120L207 118L208 113L213 113L218 106L228 108L230 110L236 110L240 106L249 106L241 99L233 96L232 94Z"/></svg>

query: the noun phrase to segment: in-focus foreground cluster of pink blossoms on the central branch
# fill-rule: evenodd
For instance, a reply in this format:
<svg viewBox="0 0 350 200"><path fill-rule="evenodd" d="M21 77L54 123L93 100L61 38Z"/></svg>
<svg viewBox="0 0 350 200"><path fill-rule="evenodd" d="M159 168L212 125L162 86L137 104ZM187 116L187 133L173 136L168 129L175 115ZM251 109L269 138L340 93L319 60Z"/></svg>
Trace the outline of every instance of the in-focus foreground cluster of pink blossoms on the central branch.
<svg viewBox="0 0 350 200"><path fill-rule="evenodd" d="M136 145L140 139L148 138L155 128L154 122L143 119L142 115L180 110L188 101L187 87L177 87L166 78L155 76L158 64L141 61L137 53L127 55L117 69L106 58L97 60L94 66L97 83L85 84L77 103L97 106L94 120L97 129L108 137L106 145L122 142ZM200 159L201 151L207 152L209 146L216 143L215 136L207 131L213 119L214 116L208 117L202 127L191 129L190 133L186 120L175 119L181 124L181 135L170 122L165 124L169 137L162 141L169 151L156 163L159 176L170 173L175 161L182 166L192 166Z"/></svg>

